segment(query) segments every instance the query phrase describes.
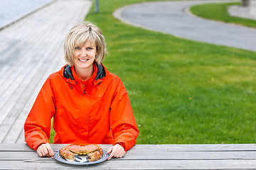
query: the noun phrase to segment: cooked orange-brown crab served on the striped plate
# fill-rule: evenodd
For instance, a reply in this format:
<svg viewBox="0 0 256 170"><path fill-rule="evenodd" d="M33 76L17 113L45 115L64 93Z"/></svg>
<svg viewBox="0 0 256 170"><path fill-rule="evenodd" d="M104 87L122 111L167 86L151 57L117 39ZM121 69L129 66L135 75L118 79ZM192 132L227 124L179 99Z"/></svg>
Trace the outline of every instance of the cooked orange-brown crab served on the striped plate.
<svg viewBox="0 0 256 170"><path fill-rule="evenodd" d="M102 157L103 151L96 144L67 145L60 149L60 156L63 159L75 160L76 155L87 155L89 162L97 161Z"/></svg>

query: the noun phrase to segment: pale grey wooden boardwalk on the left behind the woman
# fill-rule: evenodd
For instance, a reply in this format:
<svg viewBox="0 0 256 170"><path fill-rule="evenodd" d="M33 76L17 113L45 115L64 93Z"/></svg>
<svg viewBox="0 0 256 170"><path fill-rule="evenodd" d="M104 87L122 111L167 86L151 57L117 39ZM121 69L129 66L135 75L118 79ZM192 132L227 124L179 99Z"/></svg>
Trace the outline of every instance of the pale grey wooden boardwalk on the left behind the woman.
<svg viewBox="0 0 256 170"><path fill-rule="evenodd" d="M38 91L65 64L65 35L91 4L55 1L0 31L0 143L24 142L23 124Z"/></svg>

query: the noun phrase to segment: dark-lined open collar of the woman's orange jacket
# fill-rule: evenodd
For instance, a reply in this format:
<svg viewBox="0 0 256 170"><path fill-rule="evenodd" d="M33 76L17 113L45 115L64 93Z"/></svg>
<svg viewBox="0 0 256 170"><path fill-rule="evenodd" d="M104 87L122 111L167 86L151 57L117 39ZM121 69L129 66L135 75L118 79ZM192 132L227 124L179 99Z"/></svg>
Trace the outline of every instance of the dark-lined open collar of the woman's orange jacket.
<svg viewBox="0 0 256 170"><path fill-rule="evenodd" d="M94 64L94 70L95 71L97 70L97 74L95 75L95 83L94 83L96 85L96 84L99 84L100 81L102 81L102 79L106 76L106 71L102 63ZM73 72L74 72L73 66L70 66L68 64L65 65L63 70L63 77L65 77L65 79L67 79L67 81L70 82L71 84L75 84L75 78L77 78L76 75L73 75ZM94 77L94 74L92 74L92 77Z"/></svg>

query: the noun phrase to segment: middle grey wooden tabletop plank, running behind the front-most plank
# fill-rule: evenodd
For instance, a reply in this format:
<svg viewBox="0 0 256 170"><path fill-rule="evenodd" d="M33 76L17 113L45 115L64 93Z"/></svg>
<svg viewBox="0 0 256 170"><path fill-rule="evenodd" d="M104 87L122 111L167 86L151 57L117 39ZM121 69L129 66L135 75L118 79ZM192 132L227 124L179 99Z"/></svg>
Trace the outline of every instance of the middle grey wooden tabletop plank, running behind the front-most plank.
<svg viewBox="0 0 256 170"><path fill-rule="evenodd" d="M107 150L106 150L107 151ZM56 152L56 151L55 151ZM148 152L137 152L136 154L127 152L122 158L124 160L256 160L256 152L156 152L152 154ZM38 159L38 154L34 150L26 152L11 151L0 152L0 160L14 161L14 160L32 160Z"/></svg>

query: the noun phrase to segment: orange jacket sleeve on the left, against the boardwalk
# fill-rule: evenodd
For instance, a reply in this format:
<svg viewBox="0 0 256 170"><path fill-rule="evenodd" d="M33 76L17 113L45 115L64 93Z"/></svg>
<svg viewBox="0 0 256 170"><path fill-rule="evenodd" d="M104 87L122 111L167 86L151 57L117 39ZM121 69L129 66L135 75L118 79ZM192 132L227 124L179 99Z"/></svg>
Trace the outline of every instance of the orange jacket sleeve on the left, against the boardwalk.
<svg viewBox="0 0 256 170"><path fill-rule="evenodd" d="M24 125L25 141L32 149L49 142L51 118L55 114L53 91L48 78L43 84Z"/></svg>

